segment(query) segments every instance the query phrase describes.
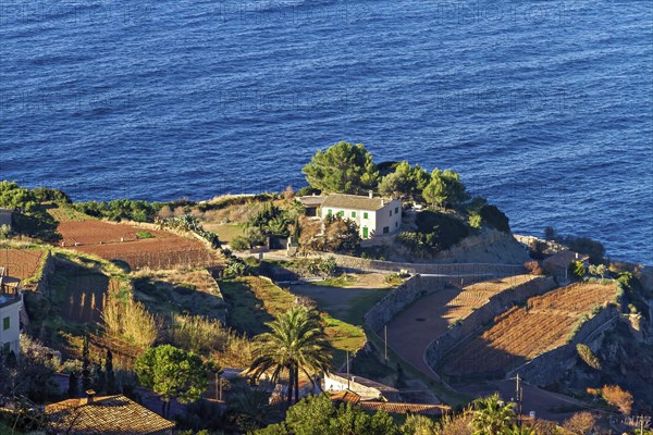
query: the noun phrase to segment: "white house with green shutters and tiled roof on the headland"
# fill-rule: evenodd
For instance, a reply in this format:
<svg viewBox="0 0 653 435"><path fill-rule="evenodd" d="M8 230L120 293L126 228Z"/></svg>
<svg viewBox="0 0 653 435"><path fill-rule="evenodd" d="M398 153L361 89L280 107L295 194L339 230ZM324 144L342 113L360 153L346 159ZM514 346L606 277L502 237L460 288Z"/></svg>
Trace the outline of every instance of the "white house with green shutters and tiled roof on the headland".
<svg viewBox="0 0 653 435"><path fill-rule="evenodd" d="M364 239L394 234L402 228L402 201L392 198L330 194L320 207L320 217L340 215L355 221Z"/></svg>

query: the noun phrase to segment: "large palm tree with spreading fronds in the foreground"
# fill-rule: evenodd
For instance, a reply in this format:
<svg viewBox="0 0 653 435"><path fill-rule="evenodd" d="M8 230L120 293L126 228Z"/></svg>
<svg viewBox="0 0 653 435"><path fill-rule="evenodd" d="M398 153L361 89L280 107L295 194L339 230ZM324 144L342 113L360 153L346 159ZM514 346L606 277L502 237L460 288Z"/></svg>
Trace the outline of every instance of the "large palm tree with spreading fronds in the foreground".
<svg viewBox="0 0 653 435"><path fill-rule="evenodd" d="M295 307L267 325L272 331L255 338L254 360L248 373L256 380L269 373L275 383L287 371L287 405L291 406L293 390L295 401L299 400L299 371L313 383L312 374L329 370L331 347L318 313L304 307Z"/></svg>

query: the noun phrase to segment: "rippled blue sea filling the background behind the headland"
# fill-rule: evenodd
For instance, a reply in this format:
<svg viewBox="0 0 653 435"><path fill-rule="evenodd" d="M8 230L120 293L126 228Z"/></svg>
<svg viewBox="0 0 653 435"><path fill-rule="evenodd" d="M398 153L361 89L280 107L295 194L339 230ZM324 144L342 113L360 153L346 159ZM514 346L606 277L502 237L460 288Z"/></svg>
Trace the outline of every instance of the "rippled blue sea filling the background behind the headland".
<svg viewBox="0 0 653 435"><path fill-rule="evenodd" d="M347 140L653 264L652 77L641 0L0 0L0 178L206 199Z"/></svg>

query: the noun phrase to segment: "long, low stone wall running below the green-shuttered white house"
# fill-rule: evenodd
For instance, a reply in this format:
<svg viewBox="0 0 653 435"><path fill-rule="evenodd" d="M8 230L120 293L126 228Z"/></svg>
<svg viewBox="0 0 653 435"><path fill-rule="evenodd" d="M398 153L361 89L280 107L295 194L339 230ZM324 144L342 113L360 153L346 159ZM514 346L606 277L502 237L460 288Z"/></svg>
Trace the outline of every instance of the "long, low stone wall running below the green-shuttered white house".
<svg viewBox="0 0 653 435"><path fill-rule="evenodd" d="M330 254L331 256L331 254ZM409 273L434 275L491 275L506 276L523 273L520 264L492 263L397 263L393 261L369 260L358 257L333 254L338 266L386 272L408 271ZM467 283L466 283L467 284Z"/></svg>

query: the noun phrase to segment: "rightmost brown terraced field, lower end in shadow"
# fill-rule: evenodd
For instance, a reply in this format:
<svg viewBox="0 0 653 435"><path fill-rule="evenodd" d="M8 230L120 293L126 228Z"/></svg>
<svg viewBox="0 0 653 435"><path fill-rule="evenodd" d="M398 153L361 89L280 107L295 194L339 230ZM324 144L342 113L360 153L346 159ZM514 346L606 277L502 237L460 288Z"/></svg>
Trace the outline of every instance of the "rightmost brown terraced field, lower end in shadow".
<svg viewBox="0 0 653 435"><path fill-rule="evenodd" d="M443 371L453 375L506 372L567 343L582 314L612 301L614 285L572 284L528 300L495 319L494 325L454 350Z"/></svg>

